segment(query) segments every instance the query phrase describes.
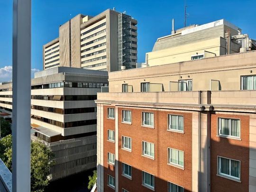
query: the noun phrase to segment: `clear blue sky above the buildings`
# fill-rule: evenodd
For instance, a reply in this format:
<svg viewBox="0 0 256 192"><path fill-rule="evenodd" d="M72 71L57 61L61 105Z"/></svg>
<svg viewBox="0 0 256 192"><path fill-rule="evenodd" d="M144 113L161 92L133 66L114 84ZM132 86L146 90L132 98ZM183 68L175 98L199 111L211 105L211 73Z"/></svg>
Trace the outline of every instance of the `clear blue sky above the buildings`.
<svg viewBox="0 0 256 192"><path fill-rule="evenodd" d="M187 24L226 19L256 39L256 0L186 0ZM138 20L138 62L152 50L158 37L169 35L171 20L183 27L184 0L32 0L32 68L42 70L42 46L58 37L59 25L79 13L95 16L116 8ZM12 65L12 0L0 0L0 81ZM7 72L8 71L8 72Z"/></svg>

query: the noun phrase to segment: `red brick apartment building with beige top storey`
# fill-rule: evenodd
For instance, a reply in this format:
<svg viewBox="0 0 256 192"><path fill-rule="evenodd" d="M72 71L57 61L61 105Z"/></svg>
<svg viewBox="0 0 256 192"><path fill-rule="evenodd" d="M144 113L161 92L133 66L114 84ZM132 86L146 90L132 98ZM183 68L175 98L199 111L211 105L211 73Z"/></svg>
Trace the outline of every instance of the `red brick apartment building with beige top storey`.
<svg viewBox="0 0 256 192"><path fill-rule="evenodd" d="M98 192L256 192L256 51L109 73Z"/></svg>

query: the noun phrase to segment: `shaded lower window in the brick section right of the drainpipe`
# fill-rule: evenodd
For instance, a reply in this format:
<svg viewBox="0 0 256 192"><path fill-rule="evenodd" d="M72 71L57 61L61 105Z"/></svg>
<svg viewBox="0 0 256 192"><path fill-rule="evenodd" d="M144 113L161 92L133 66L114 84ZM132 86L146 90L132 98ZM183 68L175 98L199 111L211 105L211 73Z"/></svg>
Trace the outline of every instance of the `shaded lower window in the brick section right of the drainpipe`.
<svg viewBox="0 0 256 192"><path fill-rule="evenodd" d="M218 174L240 180L240 161L218 156Z"/></svg>

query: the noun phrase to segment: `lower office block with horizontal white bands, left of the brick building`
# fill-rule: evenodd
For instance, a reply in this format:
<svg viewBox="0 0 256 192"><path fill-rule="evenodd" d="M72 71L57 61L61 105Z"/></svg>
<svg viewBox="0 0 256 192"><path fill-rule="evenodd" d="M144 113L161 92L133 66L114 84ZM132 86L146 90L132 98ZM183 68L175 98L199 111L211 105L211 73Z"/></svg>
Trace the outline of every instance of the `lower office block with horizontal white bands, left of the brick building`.
<svg viewBox="0 0 256 192"><path fill-rule="evenodd" d="M94 100L108 86L108 72L55 67L31 81L31 138L54 153L50 179L96 167L97 113ZM11 114L12 84L0 85L0 110Z"/></svg>

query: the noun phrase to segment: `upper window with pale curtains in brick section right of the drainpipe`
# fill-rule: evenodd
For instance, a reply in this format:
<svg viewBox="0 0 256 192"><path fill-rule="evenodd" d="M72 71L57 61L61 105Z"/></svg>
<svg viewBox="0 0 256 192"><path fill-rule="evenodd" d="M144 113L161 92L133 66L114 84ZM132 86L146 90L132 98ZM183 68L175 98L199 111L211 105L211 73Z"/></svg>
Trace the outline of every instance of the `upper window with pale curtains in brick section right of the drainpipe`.
<svg viewBox="0 0 256 192"><path fill-rule="evenodd" d="M219 119L219 135L240 138L240 120L239 119Z"/></svg>

